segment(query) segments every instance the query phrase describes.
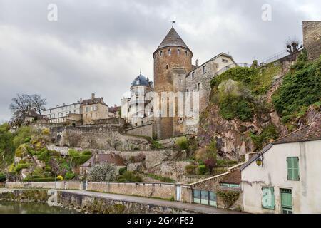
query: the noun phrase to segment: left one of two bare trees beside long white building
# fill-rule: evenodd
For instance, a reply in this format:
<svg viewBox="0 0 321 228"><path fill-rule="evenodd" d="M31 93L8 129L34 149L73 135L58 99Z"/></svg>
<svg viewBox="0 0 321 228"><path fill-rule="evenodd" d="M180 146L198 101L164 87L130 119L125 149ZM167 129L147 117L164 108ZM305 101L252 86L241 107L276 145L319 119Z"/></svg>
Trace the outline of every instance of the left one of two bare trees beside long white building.
<svg viewBox="0 0 321 228"><path fill-rule="evenodd" d="M12 98L11 101L10 110L13 113L12 119L21 125L32 108L31 98L29 95L18 93L16 98Z"/></svg>

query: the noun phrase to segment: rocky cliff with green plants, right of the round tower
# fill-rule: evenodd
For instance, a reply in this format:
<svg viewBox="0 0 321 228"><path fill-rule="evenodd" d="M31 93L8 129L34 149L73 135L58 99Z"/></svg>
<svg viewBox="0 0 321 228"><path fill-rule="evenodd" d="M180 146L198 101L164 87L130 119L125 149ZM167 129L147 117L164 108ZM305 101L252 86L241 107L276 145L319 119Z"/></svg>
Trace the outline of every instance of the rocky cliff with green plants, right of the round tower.
<svg viewBox="0 0 321 228"><path fill-rule="evenodd" d="M320 62L307 63L304 56L301 56L298 62L295 59L271 63L261 68L237 67L214 78L211 82L210 103L200 115L200 147L215 140L220 157L240 159L245 153L260 150L270 140L309 124L315 114L320 112L321 95L317 92L317 88L321 88L320 71L317 70L321 66ZM284 85L285 79L289 81L292 77L290 80L293 83L297 73L304 74L305 66L315 66L315 72L310 78L314 78L316 83L303 85L297 81L295 85L287 86L288 82ZM291 91L295 86L297 89ZM283 96L290 94L287 94L281 106L285 107L289 103L290 107L292 103L297 103L296 109L291 106L289 113L280 111L280 107L278 110L275 108L275 104L283 99L283 92ZM291 93L302 93L304 97L296 95L292 98ZM305 101L306 97L311 99Z"/></svg>

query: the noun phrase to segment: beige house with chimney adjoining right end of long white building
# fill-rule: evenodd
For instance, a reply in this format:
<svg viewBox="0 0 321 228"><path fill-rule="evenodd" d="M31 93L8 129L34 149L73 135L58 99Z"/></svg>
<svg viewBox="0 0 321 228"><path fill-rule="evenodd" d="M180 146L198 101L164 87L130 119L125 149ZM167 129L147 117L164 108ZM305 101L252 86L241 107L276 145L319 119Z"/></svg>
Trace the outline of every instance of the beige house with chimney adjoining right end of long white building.
<svg viewBox="0 0 321 228"><path fill-rule="evenodd" d="M83 114L83 124L94 124L95 120L103 120L111 118L108 105L103 101L103 98L95 98L95 93L91 94L91 99L81 102L81 110Z"/></svg>

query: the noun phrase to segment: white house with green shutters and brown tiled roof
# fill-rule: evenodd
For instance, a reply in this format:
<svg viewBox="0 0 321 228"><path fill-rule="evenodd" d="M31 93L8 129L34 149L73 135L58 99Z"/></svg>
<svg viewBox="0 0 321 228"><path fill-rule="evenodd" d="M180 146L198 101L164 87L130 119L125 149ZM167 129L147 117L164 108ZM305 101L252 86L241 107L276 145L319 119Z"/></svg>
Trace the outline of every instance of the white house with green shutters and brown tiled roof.
<svg viewBox="0 0 321 228"><path fill-rule="evenodd" d="M244 212L321 213L320 164L321 113L241 167Z"/></svg>

